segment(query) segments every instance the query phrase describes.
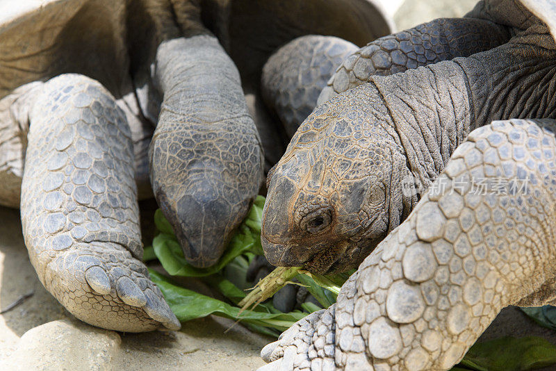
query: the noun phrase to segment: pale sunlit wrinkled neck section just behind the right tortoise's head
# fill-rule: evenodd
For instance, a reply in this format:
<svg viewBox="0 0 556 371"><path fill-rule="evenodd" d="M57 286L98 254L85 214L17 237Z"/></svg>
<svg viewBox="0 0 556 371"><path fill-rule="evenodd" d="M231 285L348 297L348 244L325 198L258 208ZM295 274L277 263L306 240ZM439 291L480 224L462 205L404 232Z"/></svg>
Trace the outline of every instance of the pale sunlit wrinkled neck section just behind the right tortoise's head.
<svg viewBox="0 0 556 371"><path fill-rule="evenodd" d="M445 61L372 79L421 193L473 129L465 77L459 65Z"/></svg>

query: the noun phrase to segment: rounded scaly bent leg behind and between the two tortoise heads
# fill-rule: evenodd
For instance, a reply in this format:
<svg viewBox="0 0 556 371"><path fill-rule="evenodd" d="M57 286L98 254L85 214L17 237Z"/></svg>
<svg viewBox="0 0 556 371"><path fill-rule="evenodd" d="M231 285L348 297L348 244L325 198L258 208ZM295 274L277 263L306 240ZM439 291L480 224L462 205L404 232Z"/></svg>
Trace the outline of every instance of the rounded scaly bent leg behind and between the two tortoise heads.
<svg viewBox="0 0 556 371"><path fill-rule="evenodd" d="M263 99L290 138L315 108L318 94L336 68L356 50L355 44L341 38L306 35L268 58L261 77Z"/></svg>

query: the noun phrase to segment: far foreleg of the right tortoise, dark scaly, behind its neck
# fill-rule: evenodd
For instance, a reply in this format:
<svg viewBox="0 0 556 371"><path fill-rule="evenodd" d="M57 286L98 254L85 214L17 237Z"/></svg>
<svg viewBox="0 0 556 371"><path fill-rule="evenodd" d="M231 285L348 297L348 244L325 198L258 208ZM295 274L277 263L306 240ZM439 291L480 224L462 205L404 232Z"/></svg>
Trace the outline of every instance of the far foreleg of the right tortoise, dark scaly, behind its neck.
<svg viewBox="0 0 556 371"><path fill-rule="evenodd" d="M370 81L430 65L441 60L471 56L509 40L510 31L485 19L441 18L384 36L362 47L344 62L327 82L318 104Z"/></svg>

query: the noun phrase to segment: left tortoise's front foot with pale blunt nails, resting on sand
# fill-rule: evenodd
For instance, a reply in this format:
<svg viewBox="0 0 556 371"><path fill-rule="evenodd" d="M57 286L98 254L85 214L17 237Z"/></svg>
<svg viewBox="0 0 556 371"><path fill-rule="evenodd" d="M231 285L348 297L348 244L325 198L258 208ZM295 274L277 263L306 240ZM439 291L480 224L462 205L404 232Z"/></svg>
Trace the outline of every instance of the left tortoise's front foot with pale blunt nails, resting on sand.
<svg viewBox="0 0 556 371"><path fill-rule="evenodd" d="M147 267L111 242L79 244L46 267L47 289L76 318L117 331L178 330Z"/></svg>

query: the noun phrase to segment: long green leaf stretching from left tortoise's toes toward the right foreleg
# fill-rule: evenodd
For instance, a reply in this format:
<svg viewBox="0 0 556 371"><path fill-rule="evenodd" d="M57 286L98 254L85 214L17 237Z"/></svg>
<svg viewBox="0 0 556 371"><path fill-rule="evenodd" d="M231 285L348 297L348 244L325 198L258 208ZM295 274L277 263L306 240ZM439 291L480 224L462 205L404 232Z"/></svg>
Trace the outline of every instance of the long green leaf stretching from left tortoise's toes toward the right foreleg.
<svg viewBox="0 0 556 371"><path fill-rule="evenodd" d="M154 270L149 270L149 274L152 281L161 289L172 312L181 322L214 314L256 326L272 327L279 331L285 331L307 314L300 311L291 313L243 311L240 315L240 308L236 306L231 306L213 297L176 286L170 279L154 272Z"/></svg>

